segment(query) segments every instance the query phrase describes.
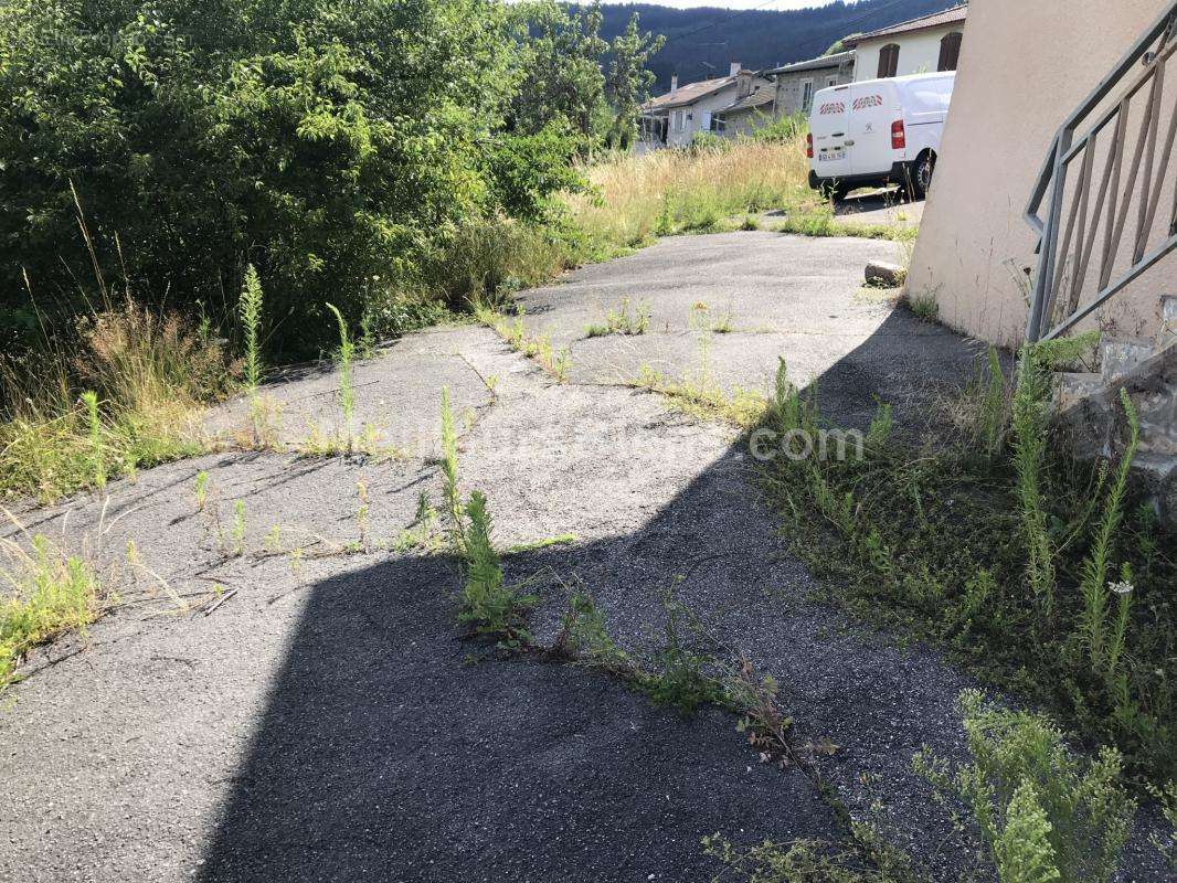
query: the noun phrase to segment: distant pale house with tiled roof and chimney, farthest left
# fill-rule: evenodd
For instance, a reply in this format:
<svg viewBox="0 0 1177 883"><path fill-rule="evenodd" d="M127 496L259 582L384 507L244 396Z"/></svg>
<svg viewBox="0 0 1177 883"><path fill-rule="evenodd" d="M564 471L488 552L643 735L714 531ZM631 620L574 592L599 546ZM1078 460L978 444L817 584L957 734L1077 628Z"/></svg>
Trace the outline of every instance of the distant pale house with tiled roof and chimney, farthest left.
<svg viewBox="0 0 1177 883"><path fill-rule="evenodd" d="M676 147L689 145L698 132L723 132L727 124L724 117L717 118L717 113L739 118L744 108L737 105L760 93L767 94L771 105L772 84L752 71L742 69L738 62L731 66L727 77L713 80L679 86L674 77L670 92L643 106L641 141L646 148ZM752 104L747 108L750 115Z"/></svg>

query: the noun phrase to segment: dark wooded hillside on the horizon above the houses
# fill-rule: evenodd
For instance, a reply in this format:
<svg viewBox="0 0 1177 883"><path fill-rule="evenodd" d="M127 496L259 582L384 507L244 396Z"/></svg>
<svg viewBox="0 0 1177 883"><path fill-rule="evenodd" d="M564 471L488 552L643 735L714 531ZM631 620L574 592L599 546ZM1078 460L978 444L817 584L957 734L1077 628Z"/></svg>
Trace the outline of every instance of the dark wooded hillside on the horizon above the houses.
<svg viewBox="0 0 1177 883"><path fill-rule="evenodd" d="M959 0L860 0L805 9L672 9L650 4L601 7L601 36L620 34L634 12L641 26L666 38L651 59L654 92L670 88L671 74L680 82L726 74L732 61L763 68L803 61L824 53L853 33L876 31L899 21L957 6Z"/></svg>

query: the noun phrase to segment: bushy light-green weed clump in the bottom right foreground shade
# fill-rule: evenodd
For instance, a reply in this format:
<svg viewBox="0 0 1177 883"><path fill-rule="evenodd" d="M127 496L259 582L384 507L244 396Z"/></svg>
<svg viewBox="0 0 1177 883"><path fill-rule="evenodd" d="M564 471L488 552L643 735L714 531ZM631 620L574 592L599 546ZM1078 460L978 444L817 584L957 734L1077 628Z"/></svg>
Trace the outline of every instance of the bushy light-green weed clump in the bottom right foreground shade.
<svg viewBox="0 0 1177 883"><path fill-rule="evenodd" d="M1108 883L1131 832L1136 802L1117 751L1072 755L1044 716L960 696L969 751L951 764L924 749L916 770L970 810L1002 883Z"/></svg>

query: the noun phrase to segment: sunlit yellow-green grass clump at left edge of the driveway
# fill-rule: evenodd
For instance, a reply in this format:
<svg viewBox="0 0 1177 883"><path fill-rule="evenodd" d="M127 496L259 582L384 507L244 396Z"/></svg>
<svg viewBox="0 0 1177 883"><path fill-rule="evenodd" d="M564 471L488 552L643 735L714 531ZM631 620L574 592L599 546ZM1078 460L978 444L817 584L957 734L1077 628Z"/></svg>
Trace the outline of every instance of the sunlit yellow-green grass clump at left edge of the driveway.
<svg viewBox="0 0 1177 883"><path fill-rule="evenodd" d="M15 670L35 646L67 632L85 632L101 612L101 591L85 559L55 549L35 536L25 551L0 539L0 690L12 684Z"/></svg>

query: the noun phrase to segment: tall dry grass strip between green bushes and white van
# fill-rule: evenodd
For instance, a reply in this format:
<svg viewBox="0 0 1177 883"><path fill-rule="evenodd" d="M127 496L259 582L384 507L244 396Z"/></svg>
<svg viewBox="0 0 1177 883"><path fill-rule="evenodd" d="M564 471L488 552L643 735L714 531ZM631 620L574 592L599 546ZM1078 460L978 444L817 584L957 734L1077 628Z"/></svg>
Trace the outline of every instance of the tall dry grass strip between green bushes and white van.
<svg viewBox="0 0 1177 883"><path fill-rule="evenodd" d="M687 150L619 154L587 170L591 190L568 198L590 251L607 255L653 238L725 228L734 215L785 208L829 214L809 188L804 133Z"/></svg>

